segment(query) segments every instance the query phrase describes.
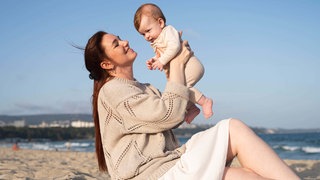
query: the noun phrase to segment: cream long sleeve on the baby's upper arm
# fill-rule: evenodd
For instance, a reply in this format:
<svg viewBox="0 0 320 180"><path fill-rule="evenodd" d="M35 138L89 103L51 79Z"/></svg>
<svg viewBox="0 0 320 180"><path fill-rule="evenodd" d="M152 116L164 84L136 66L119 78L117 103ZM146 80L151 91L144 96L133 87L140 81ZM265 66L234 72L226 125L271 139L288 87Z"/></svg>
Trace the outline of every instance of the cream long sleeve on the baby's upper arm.
<svg viewBox="0 0 320 180"><path fill-rule="evenodd" d="M159 61L163 65L166 65L180 52L181 42L179 32L173 26L168 25L165 27L163 33L163 41L165 41L166 48L161 54Z"/></svg>

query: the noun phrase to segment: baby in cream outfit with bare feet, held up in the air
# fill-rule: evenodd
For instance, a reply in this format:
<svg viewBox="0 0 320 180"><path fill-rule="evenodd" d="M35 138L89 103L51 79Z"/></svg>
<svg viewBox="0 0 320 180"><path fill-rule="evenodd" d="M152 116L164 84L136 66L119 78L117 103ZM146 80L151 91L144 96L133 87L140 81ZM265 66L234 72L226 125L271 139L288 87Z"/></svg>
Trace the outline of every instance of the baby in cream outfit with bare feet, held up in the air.
<svg viewBox="0 0 320 180"><path fill-rule="evenodd" d="M150 70L165 70L169 73L169 62L178 56L181 50L182 40L179 32L171 25L166 25L166 18L161 9L151 3L141 5L134 16L134 26L136 30L150 42L155 51L155 56L147 61ZM185 64L186 85L190 89L190 101L187 106L185 121L190 123L199 113L202 107L203 115L206 119L213 115L211 98L203 95L194 85L202 78L204 67L193 55Z"/></svg>

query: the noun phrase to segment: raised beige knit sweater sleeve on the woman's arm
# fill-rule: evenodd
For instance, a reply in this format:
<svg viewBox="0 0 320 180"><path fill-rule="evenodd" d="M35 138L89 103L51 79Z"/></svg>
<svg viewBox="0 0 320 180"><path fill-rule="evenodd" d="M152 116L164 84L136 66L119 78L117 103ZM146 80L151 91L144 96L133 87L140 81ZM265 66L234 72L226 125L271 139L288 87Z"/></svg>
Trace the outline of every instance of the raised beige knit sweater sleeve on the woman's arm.
<svg viewBox="0 0 320 180"><path fill-rule="evenodd" d="M104 90L128 133L158 133L184 120L189 100L186 86L168 82L161 96L154 93L154 89L145 88L133 86Z"/></svg>

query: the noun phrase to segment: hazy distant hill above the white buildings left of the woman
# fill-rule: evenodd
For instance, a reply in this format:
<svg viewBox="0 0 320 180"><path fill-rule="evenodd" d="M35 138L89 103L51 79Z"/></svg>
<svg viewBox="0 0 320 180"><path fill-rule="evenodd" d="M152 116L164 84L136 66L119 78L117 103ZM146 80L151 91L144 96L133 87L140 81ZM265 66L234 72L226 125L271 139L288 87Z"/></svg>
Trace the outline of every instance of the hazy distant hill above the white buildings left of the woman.
<svg viewBox="0 0 320 180"><path fill-rule="evenodd" d="M25 120L26 125L37 125L41 122L53 122L53 121L90 121L92 122L91 114L39 114L39 115L19 115L19 116L9 116L0 115L0 121L5 123L10 123L17 120Z"/></svg>

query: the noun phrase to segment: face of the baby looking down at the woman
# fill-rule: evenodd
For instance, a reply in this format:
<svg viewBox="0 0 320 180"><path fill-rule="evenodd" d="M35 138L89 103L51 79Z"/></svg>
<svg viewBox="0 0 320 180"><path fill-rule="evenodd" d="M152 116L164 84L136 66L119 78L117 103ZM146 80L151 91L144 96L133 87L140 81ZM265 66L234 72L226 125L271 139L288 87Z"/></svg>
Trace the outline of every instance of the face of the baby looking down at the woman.
<svg viewBox="0 0 320 180"><path fill-rule="evenodd" d="M155 39L158 38L163 28L163 19L159 18L158 20L156 20L152 17L142 15L138 31L146 41L152 43Z"/></svg>

